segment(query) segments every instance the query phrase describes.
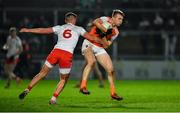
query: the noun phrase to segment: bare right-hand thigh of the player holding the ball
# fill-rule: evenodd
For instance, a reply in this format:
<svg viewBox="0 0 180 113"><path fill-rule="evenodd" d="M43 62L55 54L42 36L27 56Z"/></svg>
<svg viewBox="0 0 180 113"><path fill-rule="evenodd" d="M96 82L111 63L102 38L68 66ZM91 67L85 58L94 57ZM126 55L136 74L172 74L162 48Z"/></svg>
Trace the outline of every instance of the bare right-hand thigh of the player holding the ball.
<svg viewBox="0 0 180 113"><path fill-rule="evenodd" d="M96 58L106 71L113 71L113 63L107 53L100 54Z"/></svg>

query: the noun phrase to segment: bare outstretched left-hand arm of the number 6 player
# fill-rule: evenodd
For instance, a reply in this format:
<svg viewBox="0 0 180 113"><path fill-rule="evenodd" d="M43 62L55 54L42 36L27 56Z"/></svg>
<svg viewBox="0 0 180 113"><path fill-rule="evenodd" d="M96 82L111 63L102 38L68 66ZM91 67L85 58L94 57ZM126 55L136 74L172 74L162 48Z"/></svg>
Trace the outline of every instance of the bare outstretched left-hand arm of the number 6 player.
<svg viewBox="0 0 180 113"><path fill-rule="evenodd" d="M36 33L36 34L51 34L54 33L53 28L33 28L33 29L28 29L28 28L22 28L20 32L25 32L25 33Z"/></svg>

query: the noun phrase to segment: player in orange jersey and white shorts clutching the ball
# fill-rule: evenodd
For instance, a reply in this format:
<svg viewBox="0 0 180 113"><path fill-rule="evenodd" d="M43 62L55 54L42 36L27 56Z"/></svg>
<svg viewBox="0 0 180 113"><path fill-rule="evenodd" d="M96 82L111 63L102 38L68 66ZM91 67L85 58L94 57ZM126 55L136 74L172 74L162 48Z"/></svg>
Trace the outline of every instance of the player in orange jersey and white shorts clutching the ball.
<svg viewBox="0 0 180 113"><path fill-rule="evenodd" d="M124 13L121 10L113 10L112 17L100 17L93 21L93 27L89 34L102 38L107 42L108 46L113 43L113 40L118 36L118 26L120 26L124 19ZM106 24L106 25L104 25ZM108 28L109 24L109 28ZM80 86L80 92L83 94L90 94L87 90L87 79L96 62L96 60L104 67L108 73L108 80L110 83L110 96L115 100L122 100L121 96L118 96L115 92L114 85L114 68L112 60L102 44L93 41L84 40L82 45L82 54L86 59L86 66L83 70L82 81Z"/></svg>

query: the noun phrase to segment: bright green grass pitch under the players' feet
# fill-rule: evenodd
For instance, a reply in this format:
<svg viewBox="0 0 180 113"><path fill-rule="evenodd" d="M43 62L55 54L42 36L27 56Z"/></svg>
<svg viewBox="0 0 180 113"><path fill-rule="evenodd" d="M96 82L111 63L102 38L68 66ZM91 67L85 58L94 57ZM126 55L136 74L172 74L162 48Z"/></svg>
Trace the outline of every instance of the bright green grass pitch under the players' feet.
<svg viewBox="0 0 180 113"><path fill-rule="evenodd" d="M122 101L111 100L108 81L105 88L99 88L95 80L88 81L91 94L86 96L74 88L77 81L69 80L57 105L49 105L48 101L58 80L40 81L23 101L19 100L28 82L24 80L18 87L13 82L10 89L4 89L5 81L0 80L0 111L180 112L180 81L175 80L117 80L116 90L124 97Z"/></svg>

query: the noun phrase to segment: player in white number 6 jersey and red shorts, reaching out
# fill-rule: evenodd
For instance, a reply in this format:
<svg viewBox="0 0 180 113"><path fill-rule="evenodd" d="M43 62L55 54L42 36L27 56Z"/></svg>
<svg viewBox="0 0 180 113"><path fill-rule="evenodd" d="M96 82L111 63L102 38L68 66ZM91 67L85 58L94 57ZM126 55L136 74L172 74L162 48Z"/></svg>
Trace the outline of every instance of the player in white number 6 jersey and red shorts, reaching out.
<svg viewBox="0 0 180 113"><path fill-rule="evenodd" d="M24 97L31 91L34 85L37 84L39 80L44 78L54 65L58 64L60 81L56 87L56 90L53 93L52 98L49 101L49 104L56 104L56 99L60 92L63 90L69 78L72 66L73 52L78 42L79 36L83 36L87 40L95 41L107 46L106 43L103 43L101 39L88 34L84 28L76 26L76 20L77 15L75 13L68 12L65 15L66 24L64 25L58 25L50 28L23 28L20 30L20 32L30 32L38 34L55 33L58 35L57 44L54 46L54 49L48 55L41 71L32 79L28 87L19 95L20 99L24 99Z"/></svg>

